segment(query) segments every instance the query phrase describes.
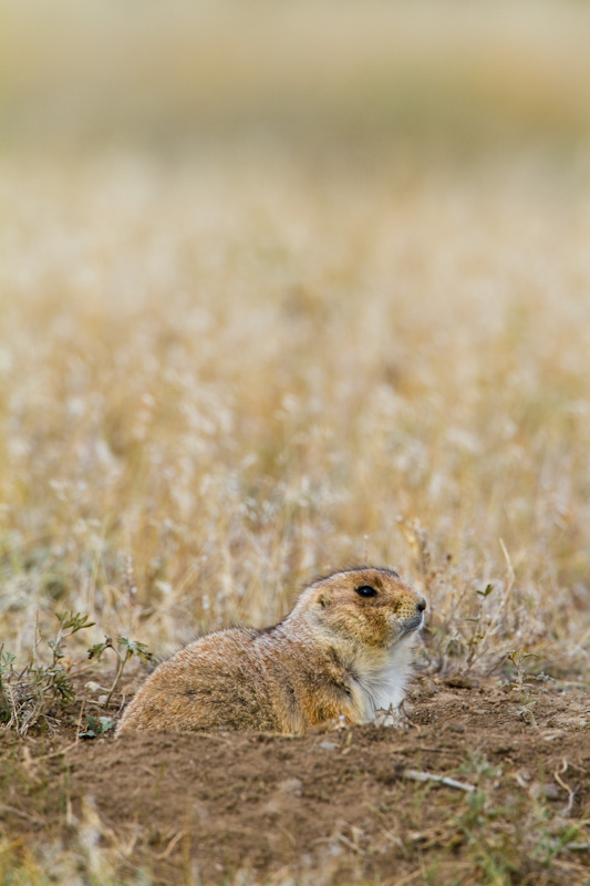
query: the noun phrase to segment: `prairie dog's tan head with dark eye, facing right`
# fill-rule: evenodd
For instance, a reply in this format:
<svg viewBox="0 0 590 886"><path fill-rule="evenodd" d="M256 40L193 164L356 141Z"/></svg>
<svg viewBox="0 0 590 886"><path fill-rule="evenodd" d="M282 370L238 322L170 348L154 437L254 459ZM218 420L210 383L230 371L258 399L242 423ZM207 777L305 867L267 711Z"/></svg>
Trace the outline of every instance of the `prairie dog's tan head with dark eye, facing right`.
<svg viewBox="0 0 590 886"><path fill-rule="evenodd" d="M424 624L426 600L392 569L363 567L334 573L310 585L294 611L342 640L386 649L415 635Z"/></svg>

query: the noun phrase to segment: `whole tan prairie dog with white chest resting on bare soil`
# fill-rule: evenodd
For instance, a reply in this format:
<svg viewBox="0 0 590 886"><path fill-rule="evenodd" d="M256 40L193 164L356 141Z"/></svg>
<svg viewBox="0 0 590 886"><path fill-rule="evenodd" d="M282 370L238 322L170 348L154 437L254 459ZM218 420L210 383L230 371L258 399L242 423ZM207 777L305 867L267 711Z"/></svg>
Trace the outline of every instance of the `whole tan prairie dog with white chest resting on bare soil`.
<svg viewBox="0 0 590 886"><path fill-rule="evenodd" d="M320 578L278 625L209 633L159 664L116 734L294 733L338 717L383 721L402 701L425 608L391 569Z"/></svg>

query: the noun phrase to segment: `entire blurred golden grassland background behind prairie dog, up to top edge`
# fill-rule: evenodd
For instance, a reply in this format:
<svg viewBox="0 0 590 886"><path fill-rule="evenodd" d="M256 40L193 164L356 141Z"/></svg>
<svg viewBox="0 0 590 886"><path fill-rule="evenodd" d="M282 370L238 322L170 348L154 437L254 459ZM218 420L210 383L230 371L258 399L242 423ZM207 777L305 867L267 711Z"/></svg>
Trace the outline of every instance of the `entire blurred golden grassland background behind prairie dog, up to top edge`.
<svg viewBox="0 0 590 886"><path fill-rule="evenodd" d="M166 651L370 560L441 667L587 662L590 8L2 17L17 653L56 608Z"/></svg>

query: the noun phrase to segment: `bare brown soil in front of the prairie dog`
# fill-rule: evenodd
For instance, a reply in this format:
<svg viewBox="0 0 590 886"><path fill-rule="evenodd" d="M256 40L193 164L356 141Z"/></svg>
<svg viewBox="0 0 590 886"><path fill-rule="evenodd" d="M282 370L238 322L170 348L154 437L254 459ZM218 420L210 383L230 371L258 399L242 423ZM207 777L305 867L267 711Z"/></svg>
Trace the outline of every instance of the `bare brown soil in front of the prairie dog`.
<svg viewBox="0 0 590 886"><path fill-rule="evenodd" d="M551 842L556 822L590 811L590 698L575 683L532 699L497 679L422 676L404 729L294 738L76 741L80 713L59 735L4 733L0 826L23 846L68 847L91 815L99 843L118 847L122 883L138 868L204 886L590 883L588 831Z"/></svg>

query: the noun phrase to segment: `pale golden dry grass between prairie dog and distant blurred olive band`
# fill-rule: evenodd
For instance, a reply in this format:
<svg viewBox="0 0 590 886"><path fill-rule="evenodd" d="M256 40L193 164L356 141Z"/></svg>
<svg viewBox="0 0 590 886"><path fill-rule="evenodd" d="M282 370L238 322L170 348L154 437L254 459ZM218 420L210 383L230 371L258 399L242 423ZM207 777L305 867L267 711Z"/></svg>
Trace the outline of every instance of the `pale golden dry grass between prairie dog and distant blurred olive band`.
<svg viewBox="0 0 590 886"><path fill-rule="evenodd" d="M588 192L550 175L4 159L8 646L58 607L165 651L371 562L437 653L583 667Z"/></svg>

